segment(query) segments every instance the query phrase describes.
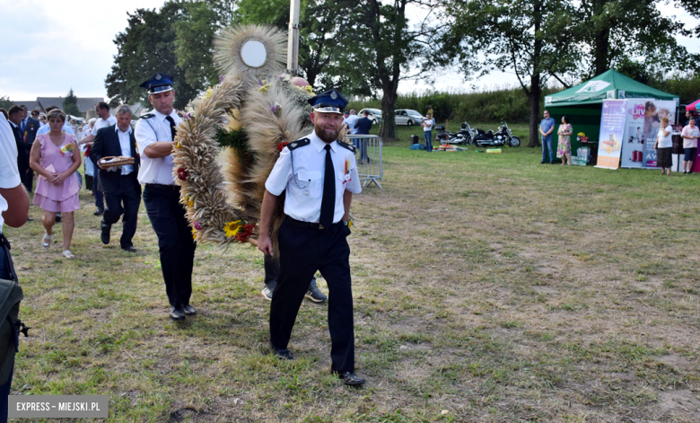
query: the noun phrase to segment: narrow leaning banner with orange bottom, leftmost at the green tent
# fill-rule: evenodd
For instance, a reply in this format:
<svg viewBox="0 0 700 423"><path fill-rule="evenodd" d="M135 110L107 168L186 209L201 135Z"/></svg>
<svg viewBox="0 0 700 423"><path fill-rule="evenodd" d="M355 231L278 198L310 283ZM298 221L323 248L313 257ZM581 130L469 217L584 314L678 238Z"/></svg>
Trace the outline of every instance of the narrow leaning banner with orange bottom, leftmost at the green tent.
<svg viewBox="0 0 700 423"><path fill-rule="evenodd" d="M626 107L626 100L603 100L596 167L617 169L620 166Z"/></svg>

